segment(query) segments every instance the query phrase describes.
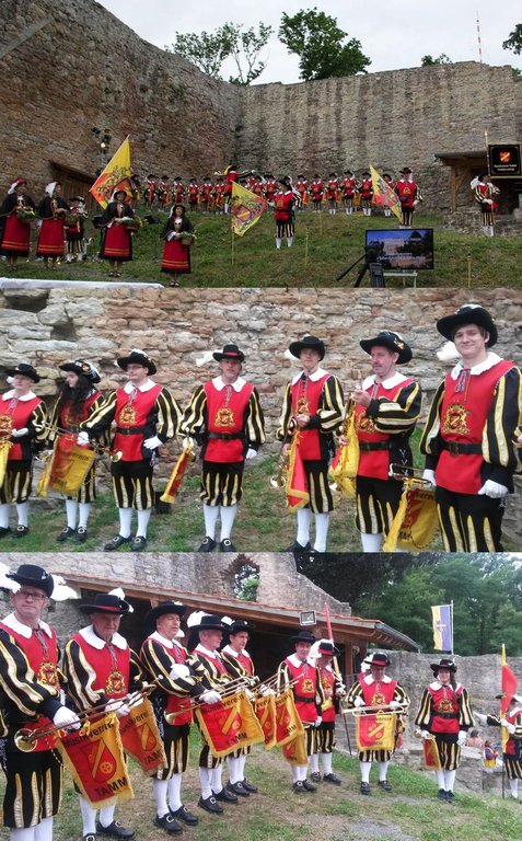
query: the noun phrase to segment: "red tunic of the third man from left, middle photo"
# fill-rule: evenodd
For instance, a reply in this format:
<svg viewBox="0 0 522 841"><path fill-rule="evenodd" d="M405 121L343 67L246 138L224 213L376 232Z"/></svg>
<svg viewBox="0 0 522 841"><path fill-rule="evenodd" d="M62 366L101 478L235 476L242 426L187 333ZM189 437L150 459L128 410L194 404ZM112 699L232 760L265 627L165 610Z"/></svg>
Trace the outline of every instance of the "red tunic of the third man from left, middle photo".
<svg viewBox="0 0 522 841"><path fill-rule="evenodd" d="M149 417L162 387L154 383L148 391L136 391L131 399L125 389L116 392L116 435L113 448L123 452L123 461L141 461L144 424ZM138 431L127 433L136 429Z"/></svg>

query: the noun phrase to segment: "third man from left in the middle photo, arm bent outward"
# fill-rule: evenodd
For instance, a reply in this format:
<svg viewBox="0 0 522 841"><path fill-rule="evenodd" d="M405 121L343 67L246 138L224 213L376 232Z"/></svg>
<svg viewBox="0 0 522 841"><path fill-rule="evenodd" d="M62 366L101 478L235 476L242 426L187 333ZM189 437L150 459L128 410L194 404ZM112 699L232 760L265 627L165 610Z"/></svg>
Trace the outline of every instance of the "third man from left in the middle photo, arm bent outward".
<svg viewBox="0 0 522 841"><path fill-rule="evenodd" d="M113 492L119 512L119 532L105 544L105 552L130 543L132 552L147 546L147 529L154 505L152 474L159 448L177 431L182 411L171 392L159 385L151 376L155 364L143 353L134 349L120 356L117 365L128 377L128 382L113 391L100 408L81 424L79 443L97 439L116 425L112 449L121 453L119 461L111 464ZM130 535L132 508L137 511L138 528Z"/></svg>

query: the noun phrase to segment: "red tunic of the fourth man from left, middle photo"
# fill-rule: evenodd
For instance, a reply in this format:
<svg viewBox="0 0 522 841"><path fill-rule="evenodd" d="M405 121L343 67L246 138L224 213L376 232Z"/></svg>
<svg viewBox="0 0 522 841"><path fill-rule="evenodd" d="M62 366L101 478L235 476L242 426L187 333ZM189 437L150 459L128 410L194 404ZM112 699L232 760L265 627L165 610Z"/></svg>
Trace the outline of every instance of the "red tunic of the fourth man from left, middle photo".
<svg viewBox="0 0 522 841"><path fill-rule="evenodd" d="M237 435L243 430L245 412L254 387L245 382L241 391L232 385L220 391L210 380L204 385L207 395L208 433ZM205 452L206 461L232 463L243 461L244 441L242 437L223 439L210 438Z"/></svg>

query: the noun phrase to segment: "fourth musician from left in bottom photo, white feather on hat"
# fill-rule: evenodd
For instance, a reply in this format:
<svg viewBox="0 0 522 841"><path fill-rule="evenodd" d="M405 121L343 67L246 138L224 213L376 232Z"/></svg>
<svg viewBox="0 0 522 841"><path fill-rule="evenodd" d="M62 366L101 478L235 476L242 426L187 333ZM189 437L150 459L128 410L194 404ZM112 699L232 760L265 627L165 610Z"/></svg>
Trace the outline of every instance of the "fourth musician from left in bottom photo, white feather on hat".
<svg viewBox="0 0 522 841"><path fill-rule="evenodd" d="M223 624L219 617L197 611L188 617L187 627L199 640L190 655L188 666L206 690L202 696L205 703L218 703L221 700L220 690L222 691L231 682L230 673L219 653L223 638ZM223 785L223 758L212 754L202 733L201 741L202 748L199 753L201 796L198 806L210 815L221 815L223 813L221 804L237 804L239 797Z"/></svg>

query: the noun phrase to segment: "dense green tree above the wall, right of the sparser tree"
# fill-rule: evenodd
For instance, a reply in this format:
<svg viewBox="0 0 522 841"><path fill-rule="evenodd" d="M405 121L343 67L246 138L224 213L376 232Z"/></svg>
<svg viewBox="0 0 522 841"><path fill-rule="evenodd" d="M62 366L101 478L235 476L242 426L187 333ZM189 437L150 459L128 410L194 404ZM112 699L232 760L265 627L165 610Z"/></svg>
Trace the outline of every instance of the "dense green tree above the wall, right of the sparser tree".
<svg viewBox="0 0 522 841"><path fill-rule="evenodd" d="M301 79L306 82L367 72L371 59L363 55L357 38L347 37L335 18L315 7L291 16L283 12L279 26L279 39L289 53L299 56Z"/></svg>

